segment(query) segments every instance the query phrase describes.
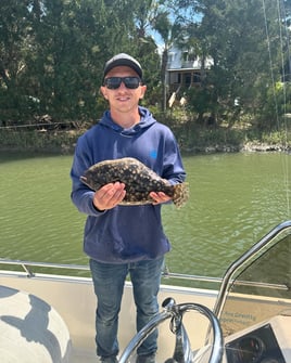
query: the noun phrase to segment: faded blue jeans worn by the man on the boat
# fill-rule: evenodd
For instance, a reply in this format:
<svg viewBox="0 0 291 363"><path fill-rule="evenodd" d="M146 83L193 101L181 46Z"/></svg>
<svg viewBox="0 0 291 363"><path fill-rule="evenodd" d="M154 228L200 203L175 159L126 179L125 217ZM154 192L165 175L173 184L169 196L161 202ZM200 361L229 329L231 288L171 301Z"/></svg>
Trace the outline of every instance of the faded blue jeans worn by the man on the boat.
<svg viewBox="0 0 291 363"><path fill-rule="evenodd" d="M157 293L164 257L132 263L113 264L90 259L90 269L97 296L96 343L97 354L103 358L118 354L118 313L124 284L129 273L137 307L137 330L140 330L159 312ZM138 354L155 353L157 329L138 348ZM129 342L129 341L128 341Z"/></svg>

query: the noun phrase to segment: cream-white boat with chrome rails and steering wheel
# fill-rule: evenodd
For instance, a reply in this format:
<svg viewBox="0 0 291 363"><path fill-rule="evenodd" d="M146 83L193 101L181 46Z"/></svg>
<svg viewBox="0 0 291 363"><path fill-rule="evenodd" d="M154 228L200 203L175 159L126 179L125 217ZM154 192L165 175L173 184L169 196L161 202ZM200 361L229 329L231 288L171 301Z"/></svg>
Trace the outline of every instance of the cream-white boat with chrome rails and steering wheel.
<svg viewBox="0 0 291 363"><path fill-rule="evenodd" d="M164 278L207 287L163 280L161 311L138 333L126 282L119 363L135 362L136 348L154 328L157 363L290 363L290 261L291 221L284 221L235 260L223 278L165 272ZM0 259L0 269L2 363L98 362L88 267Z"/></svg>

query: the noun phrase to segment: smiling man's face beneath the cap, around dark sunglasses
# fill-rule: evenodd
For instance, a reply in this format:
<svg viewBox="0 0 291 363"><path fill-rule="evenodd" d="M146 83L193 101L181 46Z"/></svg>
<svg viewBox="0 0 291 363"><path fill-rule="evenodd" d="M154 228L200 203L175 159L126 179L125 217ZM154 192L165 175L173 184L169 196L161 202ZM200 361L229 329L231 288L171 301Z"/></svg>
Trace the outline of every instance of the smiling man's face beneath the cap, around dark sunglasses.
<svg viewBox="0 0 291 363"><path fill-rule="evenodd" d="M138 77L138 74L127 66L118 66L111 69L105 79L110 77ZM139 100L143 98L147 86L139 83L138 88L130 89L124 82L117 89L109 89L106 86L101 87L103 96L109 101L111 109L119 113L128 113L135 109Z"/></svg>

